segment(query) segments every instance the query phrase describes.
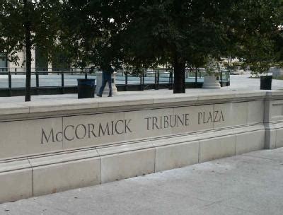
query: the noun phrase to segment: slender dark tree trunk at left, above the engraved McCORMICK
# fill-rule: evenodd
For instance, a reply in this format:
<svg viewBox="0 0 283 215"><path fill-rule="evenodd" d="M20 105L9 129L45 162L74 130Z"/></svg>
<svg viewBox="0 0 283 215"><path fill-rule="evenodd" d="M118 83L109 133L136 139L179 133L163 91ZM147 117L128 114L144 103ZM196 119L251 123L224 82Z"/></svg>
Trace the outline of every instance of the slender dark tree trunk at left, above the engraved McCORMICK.
<svg viewBox="0 0 283 215"><path fill-rule="evenodd" d="M28 0L23 1L25 10L25 102L30 102L30 76L31 76L31 33Z"/></svg>

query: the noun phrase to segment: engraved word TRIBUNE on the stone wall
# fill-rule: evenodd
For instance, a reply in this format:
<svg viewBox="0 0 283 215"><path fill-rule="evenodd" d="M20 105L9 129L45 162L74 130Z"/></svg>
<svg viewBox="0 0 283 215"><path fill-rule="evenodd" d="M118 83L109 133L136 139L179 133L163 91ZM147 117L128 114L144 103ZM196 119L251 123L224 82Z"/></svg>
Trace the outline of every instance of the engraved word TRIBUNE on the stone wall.
<svg viewBox="0 0 283 215"><path fill-rule="evenodd" d="M167 129L168 127L179 127L189 125L189 114L184 113L183 115L165 115L160 117L145 117L146 129Z"/></svg>

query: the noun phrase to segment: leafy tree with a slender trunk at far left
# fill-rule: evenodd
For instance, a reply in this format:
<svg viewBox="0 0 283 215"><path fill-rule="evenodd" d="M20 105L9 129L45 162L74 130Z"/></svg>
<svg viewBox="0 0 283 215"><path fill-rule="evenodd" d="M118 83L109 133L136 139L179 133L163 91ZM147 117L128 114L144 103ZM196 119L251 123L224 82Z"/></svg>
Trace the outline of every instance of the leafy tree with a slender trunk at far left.
<svg viewBox="0 0 283 215"><path fill-rule="evenodd" d="M25 50L25 101L30 101L31 50L46 50L48 57L57 43L59 0L0 0L0 50L18 64L17 52Z"/></svg>

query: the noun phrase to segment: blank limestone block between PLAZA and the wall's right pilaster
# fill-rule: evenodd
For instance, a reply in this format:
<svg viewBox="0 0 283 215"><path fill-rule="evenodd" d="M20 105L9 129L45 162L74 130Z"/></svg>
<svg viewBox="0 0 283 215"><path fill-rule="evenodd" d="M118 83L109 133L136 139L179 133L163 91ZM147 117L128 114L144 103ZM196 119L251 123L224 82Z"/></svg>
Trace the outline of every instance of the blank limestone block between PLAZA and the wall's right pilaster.
<svg viewBox="0 0 283 215"><path fill-rule="evenodd" d="M265 103L263 100L248 102L248 124L263 122L264 105Z"/></svg>

